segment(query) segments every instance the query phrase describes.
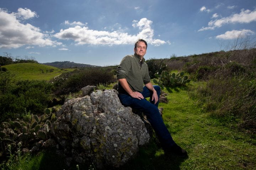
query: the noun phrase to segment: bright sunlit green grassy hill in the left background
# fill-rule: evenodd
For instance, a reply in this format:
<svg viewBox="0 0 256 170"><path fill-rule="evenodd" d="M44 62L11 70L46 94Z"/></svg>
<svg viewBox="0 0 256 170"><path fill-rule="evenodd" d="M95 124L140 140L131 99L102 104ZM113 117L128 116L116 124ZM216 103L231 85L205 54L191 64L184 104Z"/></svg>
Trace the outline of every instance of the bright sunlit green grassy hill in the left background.
<svg viewBox="0 0 256 170"><path fill-rule="evenodd" d="M15 74L14 79L18 80L46 80L49 81L57 75L74 69L59 69L53 66L47 66L38 63L17 63L2 66Z"/></svg>

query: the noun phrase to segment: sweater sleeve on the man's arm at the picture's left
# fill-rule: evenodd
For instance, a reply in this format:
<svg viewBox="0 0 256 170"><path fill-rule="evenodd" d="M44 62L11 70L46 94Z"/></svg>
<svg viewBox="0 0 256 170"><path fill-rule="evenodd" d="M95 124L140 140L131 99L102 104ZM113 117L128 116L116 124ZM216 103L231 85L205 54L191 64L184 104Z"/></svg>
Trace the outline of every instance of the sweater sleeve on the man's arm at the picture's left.
<svg viewBox="0 0 256 170"><path fill-rule="evenodd" d="M131 63L129 57L126 56L122 59L121 63L117 68L117 79L125 79L130 70Z"/></svg>

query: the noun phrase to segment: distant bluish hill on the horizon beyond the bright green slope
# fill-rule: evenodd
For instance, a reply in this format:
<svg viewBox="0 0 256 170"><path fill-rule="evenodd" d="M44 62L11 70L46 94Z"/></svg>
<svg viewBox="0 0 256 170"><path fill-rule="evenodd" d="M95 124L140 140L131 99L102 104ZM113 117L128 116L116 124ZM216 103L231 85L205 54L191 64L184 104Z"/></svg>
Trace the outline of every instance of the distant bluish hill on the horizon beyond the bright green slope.
<svg viewBox="0 0 256 170"><path fill-rule="evenodd" d="M93 66L90 64L74 63L74 62L70 62L70 61L55 61L55 62L51 62L51 63L42 63L42 64L57 67L57 68L100 67L100 66Z"/></svg>

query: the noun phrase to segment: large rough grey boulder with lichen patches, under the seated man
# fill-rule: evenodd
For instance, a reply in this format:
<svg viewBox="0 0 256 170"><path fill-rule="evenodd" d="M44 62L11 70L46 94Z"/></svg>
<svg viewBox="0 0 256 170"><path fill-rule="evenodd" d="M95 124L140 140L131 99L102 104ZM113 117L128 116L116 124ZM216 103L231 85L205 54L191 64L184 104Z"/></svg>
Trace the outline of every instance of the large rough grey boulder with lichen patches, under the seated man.
<svg viewBox="0 0 256 170"><path fill-rule="evenodd" d="M97 168L119 167L149 141L143 120L120 103L117 93L96 90L67 100L56 113L52 134L67 157L92 160Z"/></svg>

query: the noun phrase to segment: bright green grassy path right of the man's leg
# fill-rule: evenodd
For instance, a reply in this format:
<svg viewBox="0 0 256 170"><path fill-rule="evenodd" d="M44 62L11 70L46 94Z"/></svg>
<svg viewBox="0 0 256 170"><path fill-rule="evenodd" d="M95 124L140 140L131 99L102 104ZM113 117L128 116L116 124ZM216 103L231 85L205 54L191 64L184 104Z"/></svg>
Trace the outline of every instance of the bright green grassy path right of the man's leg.
<svg viewBox="0 0 256 170"><path fill-rule="evenodd" d="M188 158L167 158L150 142L122 169L256 169L255 139L210 118L186 90L164 91L169 99L159 106L164 108L164 122L176 143L187 150Z"/></svg>

